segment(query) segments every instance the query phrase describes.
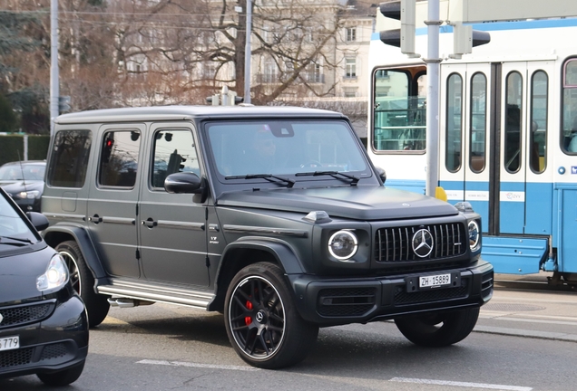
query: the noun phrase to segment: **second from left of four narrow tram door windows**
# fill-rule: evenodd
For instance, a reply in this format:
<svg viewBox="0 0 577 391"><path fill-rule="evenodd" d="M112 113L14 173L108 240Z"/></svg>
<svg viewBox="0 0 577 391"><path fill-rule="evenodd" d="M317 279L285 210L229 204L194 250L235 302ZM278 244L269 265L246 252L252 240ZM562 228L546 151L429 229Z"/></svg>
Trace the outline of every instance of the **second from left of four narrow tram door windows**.
<svg viewBox="0 0 577 391"><path fill-rule="evenodd" d="M475 173L484 170L486 158L487 124L487 78L483 73L475 73L471 79L471 123L469 167Z"/></svg>

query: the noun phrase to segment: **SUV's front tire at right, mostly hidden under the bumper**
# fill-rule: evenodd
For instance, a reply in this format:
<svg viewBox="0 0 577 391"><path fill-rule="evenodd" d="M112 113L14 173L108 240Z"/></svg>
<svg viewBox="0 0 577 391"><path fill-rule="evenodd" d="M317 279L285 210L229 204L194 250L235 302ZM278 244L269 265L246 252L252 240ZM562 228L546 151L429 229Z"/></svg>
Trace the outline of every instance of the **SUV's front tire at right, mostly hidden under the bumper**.
<svg viewBox="0 0 577 391"><path fill-rule="evenodd" d="M445 347L465 339L479 318L479 308L439 315L395 319L396 327L416 345Z"/></svg>

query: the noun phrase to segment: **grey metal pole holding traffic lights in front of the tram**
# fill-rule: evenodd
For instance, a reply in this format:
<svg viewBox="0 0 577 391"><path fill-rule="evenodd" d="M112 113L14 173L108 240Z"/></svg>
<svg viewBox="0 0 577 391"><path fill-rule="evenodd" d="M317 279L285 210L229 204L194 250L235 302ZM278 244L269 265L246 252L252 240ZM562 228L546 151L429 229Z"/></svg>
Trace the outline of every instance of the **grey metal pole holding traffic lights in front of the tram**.
<svg viewBox="0 0 577 391"><path fill-rule="evenodd" d="M429 0L427 18L425 193L435 196L439 183L439 0Z"/></svg>

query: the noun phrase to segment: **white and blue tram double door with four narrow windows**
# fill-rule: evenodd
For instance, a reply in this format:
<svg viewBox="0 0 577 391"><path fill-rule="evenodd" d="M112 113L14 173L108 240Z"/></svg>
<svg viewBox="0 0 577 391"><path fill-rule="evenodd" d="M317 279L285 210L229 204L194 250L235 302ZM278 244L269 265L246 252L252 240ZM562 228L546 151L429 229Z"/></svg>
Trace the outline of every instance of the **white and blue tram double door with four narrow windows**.
<svg viewBox="0 0 577 391"><path fill-rule="evenodd" d="M440 186L452 204L471 203L483 217L484 233L551 234L552 67L553 62L441 67Z"/></svg>

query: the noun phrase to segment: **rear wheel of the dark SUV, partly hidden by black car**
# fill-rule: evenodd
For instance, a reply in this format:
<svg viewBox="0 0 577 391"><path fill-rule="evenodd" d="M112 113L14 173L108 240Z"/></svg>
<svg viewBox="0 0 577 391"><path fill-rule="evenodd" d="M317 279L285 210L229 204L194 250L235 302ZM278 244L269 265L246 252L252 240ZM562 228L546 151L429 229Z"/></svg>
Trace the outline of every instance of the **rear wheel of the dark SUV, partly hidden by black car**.
<svg viewBox="0 0 577 391"><path fill-rule="evenodd" d="M73 289L82 300L88 313L88 324L91 328L101 324L110 310L108 296L98 294L94 291L93 273L88 269L84 261L80 247L74 241L60 243L56 246L56 251L60 253L68 270L70 271L70 281Z"/></svg>

